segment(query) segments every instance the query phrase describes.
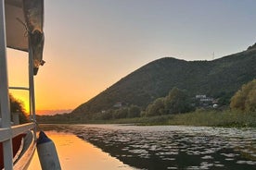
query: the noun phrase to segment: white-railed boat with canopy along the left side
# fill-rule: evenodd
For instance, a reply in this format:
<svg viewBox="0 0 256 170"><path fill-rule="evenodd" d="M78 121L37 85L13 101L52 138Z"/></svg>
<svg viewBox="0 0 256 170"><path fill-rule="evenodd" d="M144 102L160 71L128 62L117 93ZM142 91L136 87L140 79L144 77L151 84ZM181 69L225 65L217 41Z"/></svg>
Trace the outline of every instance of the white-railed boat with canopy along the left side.
<svg viewBox="0 0 256 170"><path fill-rule="evenodd" d="M26 169L36 148L34 76L43 66L44 0L0 2L0 169ZM29 87L9 87L6 48L28 53ZM11 120L9 90L28 91L30 123ZM13 116L17 117L17 116ZM19 121L18 121L19 122Z"/></svg>

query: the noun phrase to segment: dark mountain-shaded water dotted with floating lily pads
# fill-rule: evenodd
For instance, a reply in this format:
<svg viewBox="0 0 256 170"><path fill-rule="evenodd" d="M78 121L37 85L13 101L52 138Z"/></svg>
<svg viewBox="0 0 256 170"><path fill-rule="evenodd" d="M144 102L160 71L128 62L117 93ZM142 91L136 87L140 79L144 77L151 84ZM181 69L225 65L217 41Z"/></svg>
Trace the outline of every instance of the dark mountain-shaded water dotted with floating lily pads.
<svg viewBox="0 0 256 170"><path fill-rule="evenodd" d="M255 128L80 125L65 129L140 169L256 169Z"/></svg>

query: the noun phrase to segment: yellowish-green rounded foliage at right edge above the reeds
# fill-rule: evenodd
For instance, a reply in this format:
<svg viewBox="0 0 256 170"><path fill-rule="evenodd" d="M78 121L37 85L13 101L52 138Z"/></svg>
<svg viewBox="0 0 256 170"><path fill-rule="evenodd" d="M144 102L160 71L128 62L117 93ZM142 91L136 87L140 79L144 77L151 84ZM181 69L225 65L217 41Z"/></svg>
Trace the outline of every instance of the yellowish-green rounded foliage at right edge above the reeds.
<svg viewBox="0 0 256 170"><path fill-rule="evenodd" d="M230 108L247 112L256 111L256 79L244 84L236 92L231 99Z"/></svg>

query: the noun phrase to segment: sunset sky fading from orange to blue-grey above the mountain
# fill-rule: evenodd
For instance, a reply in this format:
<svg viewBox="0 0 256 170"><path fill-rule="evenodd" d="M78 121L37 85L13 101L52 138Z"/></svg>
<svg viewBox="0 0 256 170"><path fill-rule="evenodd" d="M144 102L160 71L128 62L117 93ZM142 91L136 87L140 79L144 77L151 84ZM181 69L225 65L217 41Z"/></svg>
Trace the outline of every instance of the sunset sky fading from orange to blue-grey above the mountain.
<svg viewBox="0 0 256 170"><path fill-rule="evenodd" d="M246 50L256 42L255 6L255 0L45 0L37 113L70 112L161 57L212 60ZM9 85L26 86L27 54L7 54ZM10 92L27 104L26 92Z"/></svg>

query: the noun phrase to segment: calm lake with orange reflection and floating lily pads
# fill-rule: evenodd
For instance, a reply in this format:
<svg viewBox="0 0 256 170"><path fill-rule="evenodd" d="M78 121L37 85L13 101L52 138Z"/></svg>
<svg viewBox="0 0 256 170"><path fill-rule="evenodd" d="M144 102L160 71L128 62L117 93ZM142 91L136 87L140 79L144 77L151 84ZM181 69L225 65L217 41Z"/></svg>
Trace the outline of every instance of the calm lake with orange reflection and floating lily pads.
<svg viewBox="0 0 256 170"><path fill-rule="evenodd" d="M42 128L56 143L62 169L256 169L256 128L132 125ZM36 160L39 164L35 154L31 167Z"/></svg>

